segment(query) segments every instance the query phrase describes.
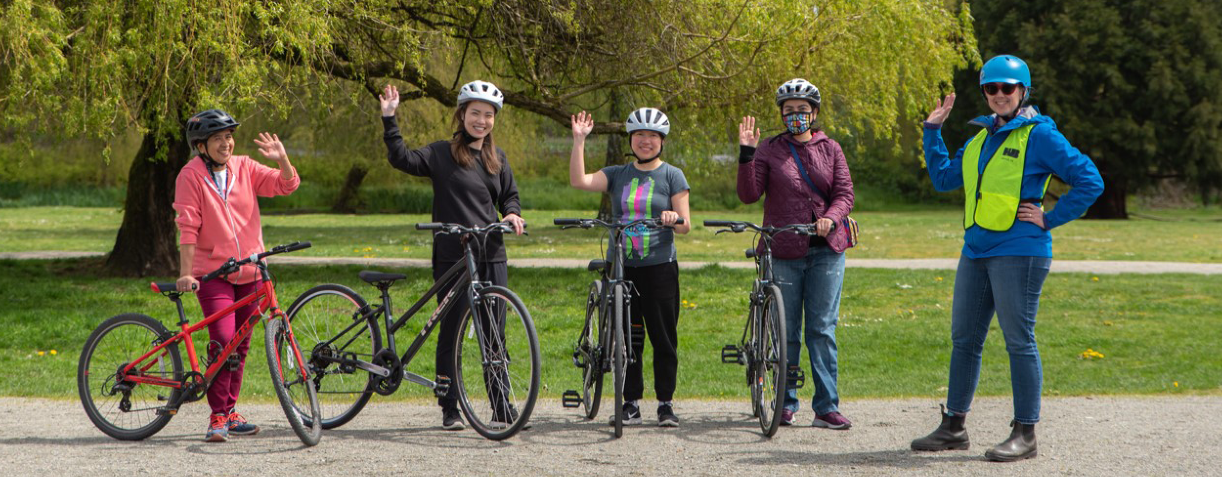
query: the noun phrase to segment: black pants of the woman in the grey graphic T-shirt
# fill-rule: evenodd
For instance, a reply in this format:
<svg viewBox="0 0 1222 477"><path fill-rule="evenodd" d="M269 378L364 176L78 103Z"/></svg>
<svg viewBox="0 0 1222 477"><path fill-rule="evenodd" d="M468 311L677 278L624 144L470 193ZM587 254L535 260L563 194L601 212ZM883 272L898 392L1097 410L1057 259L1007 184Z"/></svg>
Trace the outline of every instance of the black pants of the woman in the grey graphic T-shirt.
<svg viewBox="0 0 1222 477"><path fill-rule="evenodd" d="M643 267L623 267L624 278L633 283L632 353L635 361L628 365L623 386L624 400L638 400L645 390L642 376L643 334L654 346L654 390L659 401L675 398L675 381L679 367L679 265L667 262Z"/></svg>

